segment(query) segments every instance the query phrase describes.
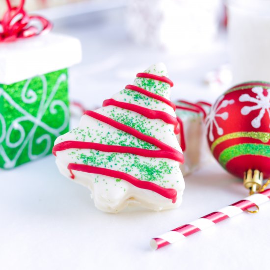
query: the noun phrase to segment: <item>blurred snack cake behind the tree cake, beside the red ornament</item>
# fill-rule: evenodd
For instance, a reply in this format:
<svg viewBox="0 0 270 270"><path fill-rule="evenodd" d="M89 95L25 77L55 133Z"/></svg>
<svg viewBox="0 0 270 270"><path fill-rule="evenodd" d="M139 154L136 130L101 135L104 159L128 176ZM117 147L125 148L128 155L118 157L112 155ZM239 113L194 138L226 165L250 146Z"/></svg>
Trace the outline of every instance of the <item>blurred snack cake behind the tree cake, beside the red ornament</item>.
<svg viewBox="0 0 270 270"><path fill-rule="evenodd" d="M213 160L206 139L205 117L211 104L191 103L179 100L175 103L180 133L177 135L184 152L185 163L180 165L183 175L198 169L202 164Z"/></svg>

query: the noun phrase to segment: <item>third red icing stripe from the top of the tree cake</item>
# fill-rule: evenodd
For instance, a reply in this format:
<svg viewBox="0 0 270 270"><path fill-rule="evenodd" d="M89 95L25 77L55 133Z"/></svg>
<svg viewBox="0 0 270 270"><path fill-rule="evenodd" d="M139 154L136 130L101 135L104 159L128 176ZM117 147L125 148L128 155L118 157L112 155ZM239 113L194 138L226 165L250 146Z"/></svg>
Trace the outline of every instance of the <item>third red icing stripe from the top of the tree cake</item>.
<svg viewBox="0 0 270 270"><path fill-rule="evenodd" d="M160 110L148 109L148 108L141 107L135 104L121 102L114 99L107 99L103 102L103 107L106 107L109 105L135 111L150 119L162 119L165 123L174 125L175 134L179 133L179 129L177 128L178 127L177 119L176 117L173 117L169 113L166 113Z"/></svg>

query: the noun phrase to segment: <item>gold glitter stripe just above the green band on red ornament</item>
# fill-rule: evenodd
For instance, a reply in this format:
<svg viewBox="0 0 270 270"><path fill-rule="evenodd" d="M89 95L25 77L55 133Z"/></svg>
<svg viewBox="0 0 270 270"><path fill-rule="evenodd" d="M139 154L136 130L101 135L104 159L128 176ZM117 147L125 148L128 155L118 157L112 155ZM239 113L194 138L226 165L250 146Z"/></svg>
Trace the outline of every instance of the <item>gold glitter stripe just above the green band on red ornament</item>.
<svg viewBox="0 0 270 270"><path fill-rule="evenodd" d="M213 142L213 144L211 146L212 153L214 153L216 146L218 144L222 143L223 141L226 141L228 139L241 138L241 137L259 139L262 142L267 143L270 140L270 133L267 133L267 132L235 132L235 133L230 133L230 134L224 135L222 137L219 137L218 139L216 139Z"/></svg>

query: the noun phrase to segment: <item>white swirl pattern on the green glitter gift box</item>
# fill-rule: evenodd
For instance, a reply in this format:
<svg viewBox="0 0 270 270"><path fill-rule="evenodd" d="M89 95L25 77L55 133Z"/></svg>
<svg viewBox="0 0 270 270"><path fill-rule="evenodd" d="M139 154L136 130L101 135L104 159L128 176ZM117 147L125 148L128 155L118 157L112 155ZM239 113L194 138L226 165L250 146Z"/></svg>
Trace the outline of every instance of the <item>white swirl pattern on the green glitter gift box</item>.
<svg viewBox="0 0 270 270"><path fill-rule="evenodd" d="M5 162L5 164L4 164L5 168L12 168L16 165L17 160L21 156L21 154L22 154L23 150L25 149L28 142L29 143L28 143L27 152L28 152L28 157L30 160L35 160L39 157L42 157L42 156L45 156L46 154L48 154L48 152L51 148L51 144L52 144L52 139L51 139L51 136L49 134L43 134L35 140L36 144L41 144L43 141L46 141L46 147L43 150L43 152L38 154L38 155L34 155L32 153L34 135L35 135L36 129L38 127L41 127L47 133L50 133L50 134L58 137L60 135L61 131L63 131L68 126L68 122L69 122L69 117L68 117L69 109L68 109L68 107L61 100L53 100L54 96L59 88L59 85L63 81L67 81L67 76L62 73L58 77L58 79L57 79L57 81L52 89L52 92L50 93L48 98L46 98L47 92L48 92L47 80L46 80L45 76L43 76L43 75L39 76L38 78L40 78L40 80L42 81L42 97L41 97L41 101L40 101L38 112L37 112L36 116L33 116L32 114L27 112L24 108L22 108L19 104L17 104L13 100L11 98L11 96L4 91L4 89L0 88L0 97L3 96L3 98L13 108L15 108L17 111L19 111L20 113L23 114L23 116L15 119L11 123L11 125L9 126L9 128L7 130L6 130L6 123L5 123L4 116L2 114L0 114L0 124L2 127L1 134L0 134L0 156L2 156L2 158ZM21 98L22 98L22 101L26 104L33 104L34 102L37 101L37 94L35 93L35 91L33 91L32 89L28 89L28 86L29 86L31 80L32 79L28 79L26 84L24 85L24 87L22 89ZM56 107L59 107L59 108L56 108ZM60 127L52 128L49 125L47 125L46 123L41 121L43 115L45 114L45 112L47 111L48 108L49 108L49 112L51 114L57 114L59 109L63 110L64 121ZM34 124L27 135L26 135L26 132L21 124L24 121L30 121ZM20 136L16 142L11 142L10 141L11 134L14 131L19 132ZM17 151L15 157L12 160L9 159L9 157L5 153L3 146L1 145L1 143L4 140L5 140L6 146L9 148L17 148L20 146L19 150Z"/></svg>

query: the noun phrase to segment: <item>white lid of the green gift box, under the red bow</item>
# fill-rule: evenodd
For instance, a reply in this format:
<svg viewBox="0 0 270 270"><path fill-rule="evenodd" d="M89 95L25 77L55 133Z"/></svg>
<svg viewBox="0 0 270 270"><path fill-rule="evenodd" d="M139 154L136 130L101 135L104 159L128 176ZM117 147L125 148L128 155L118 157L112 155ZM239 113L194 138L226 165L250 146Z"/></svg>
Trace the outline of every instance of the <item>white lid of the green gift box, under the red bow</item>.
<svg viewBox="0 0 270 270"><path fill-rule="evenodd" d="M80 61L81 43L71 36L48 33L0 43L0 83L23 81Z"/></svg>

